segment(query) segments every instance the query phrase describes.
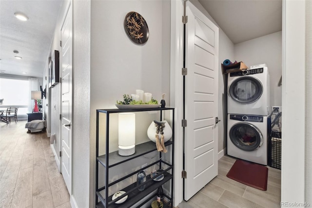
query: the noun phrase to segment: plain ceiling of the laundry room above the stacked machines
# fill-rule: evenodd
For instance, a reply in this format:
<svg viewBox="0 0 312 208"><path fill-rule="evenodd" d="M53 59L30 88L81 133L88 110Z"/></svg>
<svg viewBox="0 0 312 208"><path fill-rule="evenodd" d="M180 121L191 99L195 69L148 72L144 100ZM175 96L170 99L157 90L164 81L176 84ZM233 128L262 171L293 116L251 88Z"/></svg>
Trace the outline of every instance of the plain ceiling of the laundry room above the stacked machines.
<svg viewBox="0 0 312 208"><path fill-rule="evenodd" d="M282 30L282 0L199 0L235 44Z"/></svg>

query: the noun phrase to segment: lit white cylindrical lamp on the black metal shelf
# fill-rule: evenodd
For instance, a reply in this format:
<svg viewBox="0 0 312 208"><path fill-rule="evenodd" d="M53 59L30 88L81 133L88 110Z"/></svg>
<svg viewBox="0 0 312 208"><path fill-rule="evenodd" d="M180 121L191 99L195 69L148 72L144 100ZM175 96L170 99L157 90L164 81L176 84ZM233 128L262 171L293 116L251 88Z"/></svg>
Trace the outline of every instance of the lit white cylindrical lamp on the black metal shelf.
<svg viewBox="0 0 312 208"><path fill-rule="evenodd" d="M136 151L136 114L118 114L118 154L133 155Z"/></svg>

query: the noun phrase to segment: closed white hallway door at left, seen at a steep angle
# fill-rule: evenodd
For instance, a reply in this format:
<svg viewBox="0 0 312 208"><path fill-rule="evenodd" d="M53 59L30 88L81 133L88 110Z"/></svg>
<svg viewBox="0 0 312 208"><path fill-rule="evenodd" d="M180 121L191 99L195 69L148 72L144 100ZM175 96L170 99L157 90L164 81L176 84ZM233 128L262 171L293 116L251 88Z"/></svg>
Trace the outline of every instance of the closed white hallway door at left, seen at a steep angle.
<svg viewBox="0 0 312 208"><path fill-rule="evenodd" d="M72 182L72 5L61 27L61 172L69 193Z"/></svg>

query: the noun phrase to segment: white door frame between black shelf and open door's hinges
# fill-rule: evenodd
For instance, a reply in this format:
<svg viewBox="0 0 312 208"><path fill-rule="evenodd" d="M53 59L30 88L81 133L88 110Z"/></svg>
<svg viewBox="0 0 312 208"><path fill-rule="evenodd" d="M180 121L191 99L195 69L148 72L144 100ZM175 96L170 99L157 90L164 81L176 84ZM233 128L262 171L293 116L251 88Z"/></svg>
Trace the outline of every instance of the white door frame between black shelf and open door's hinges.
<svg viewBox="0 0 312 208"><path fill-rule="evenodd" d="M174 202L176 207L183 201L183 0L171 0L171 59L170 59L170 104L176 108Z"/></svg>

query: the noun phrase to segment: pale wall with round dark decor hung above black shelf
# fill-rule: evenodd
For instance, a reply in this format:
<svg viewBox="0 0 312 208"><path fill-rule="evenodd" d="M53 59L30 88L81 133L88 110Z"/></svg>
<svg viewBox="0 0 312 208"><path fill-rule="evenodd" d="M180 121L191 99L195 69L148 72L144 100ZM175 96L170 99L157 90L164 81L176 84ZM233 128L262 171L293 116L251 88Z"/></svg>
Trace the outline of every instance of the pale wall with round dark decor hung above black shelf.
<svg viewBox="0 0 312 208"><path fill-rule="evenodd" d="M143 45L125 33L126 14L136 11L149 27ZM170 106L170 1L91 1L90 198L95 202L96 109L116 108L123 94L142 89Z"/></svg>

